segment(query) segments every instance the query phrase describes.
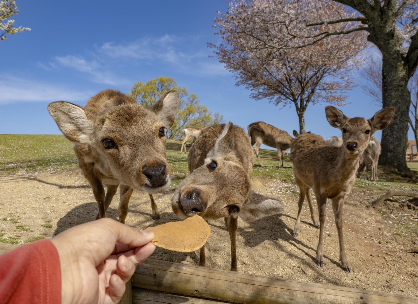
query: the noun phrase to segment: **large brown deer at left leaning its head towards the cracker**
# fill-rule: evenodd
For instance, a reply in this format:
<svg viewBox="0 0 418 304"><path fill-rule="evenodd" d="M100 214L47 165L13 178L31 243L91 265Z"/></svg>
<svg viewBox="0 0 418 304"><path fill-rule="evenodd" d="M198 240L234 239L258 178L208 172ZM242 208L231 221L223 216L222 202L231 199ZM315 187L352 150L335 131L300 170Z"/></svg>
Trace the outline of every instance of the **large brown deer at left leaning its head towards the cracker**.
<svg viewBox="0 0 418 304"><path fill-rule="evenodd" d="M121 92L105 90L84 108L63 101L48 105L62 133L74 143L79 167L97 201L97 218L106 217L119 185L120 222L125 222L133 189L150 194L153 219L160 218L152 193L170 186L164 130L173 124L179 101L178 93L171 91L144 109Z"/></svg>

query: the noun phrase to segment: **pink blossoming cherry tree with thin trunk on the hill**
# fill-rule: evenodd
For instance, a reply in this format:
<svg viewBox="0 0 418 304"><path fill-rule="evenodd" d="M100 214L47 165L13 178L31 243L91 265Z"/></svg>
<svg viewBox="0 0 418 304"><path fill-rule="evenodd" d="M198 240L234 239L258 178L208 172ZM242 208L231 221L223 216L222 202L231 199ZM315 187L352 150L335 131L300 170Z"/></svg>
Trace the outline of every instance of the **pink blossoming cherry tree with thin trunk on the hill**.
<svg viewBox="0 0 418 304"><path fill-rule="evenodd" d="M345 92L353 85L350 71L358 64L359 52L367 46L362 32L342 38L332 36L297 50L294 36L315 36L324 28L345 31L347 25L306 27L335 15L354 18L344 5L333 1L237 0L226 14L218 12L214 27L222 43L209 43L214 54L233 72L237 85L252 91L255 100L275 105L294 105L300 133L309 104L328 102L344 105ZM292 45L293 43L293 45Z"/></svg>

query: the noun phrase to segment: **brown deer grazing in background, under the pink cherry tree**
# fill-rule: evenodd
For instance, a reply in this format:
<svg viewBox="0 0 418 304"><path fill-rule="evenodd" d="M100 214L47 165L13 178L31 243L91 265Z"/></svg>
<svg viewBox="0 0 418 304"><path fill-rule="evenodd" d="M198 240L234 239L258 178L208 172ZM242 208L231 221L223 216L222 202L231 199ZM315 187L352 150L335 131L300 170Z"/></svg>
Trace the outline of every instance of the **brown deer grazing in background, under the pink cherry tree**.
<svg viewBox="0 0 418 304"><path fill-rule="evenodd" d="M251 146L254 146L255 155L260 166L263 164L260 160L260 154L258 153L262 143L265 145L276 148L279 156L280 167L283 167L283 151L286 151L290 147L290 143L293 138L286 131L280 130L268 123L258 121L252 123L247 127L248 135L251 138Z"/></svg>

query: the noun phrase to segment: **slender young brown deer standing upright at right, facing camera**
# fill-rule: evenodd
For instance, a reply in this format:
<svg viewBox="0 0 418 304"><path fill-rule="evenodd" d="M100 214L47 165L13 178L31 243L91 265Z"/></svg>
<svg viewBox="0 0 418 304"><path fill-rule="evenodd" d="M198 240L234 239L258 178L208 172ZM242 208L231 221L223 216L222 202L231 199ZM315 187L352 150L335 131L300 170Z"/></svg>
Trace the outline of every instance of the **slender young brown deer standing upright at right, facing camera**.
<svg viewBox="0 0 418 304"><path fill-rule="evenodd" d="M342 268L351 272L342 233L344 199L354 185L359 157L366 149L370 137L376 130L385 129L392 123L395 108L385 107L369 120L360 117L348 118L332 106L325 107L325 113L331 126L342 131L343 144L340 147L331 146L321 136L308 133L299 135L292 142L293 172L300 189L298 216L292 235L294 237L298 236L303 200L307 194L309 202L309 190L312 188L316 195L320 223L316 264L322 267L326 199L331 199L339 238L339 259ZM309 204L309 207L311 214L313 214L313 206Z"/></svg>

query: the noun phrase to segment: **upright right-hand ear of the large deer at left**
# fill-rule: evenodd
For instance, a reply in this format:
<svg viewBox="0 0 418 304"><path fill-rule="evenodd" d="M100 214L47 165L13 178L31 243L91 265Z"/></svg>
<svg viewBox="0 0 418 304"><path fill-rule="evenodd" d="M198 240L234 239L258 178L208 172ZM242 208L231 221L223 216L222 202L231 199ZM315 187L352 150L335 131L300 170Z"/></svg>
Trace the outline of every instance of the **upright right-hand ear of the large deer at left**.
<svg viewBox="0 0 418 304"><path fill-rule="evenodd" d="M155 102L155 104L150 107L150 110L163 122L164 127L169 129L174 123L179 103L180 96L178 95L178 92L170 91L161 97L158 102Z"/></svg>

